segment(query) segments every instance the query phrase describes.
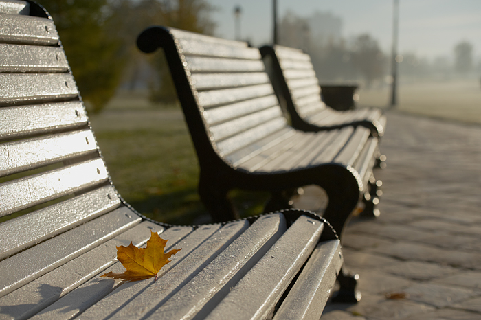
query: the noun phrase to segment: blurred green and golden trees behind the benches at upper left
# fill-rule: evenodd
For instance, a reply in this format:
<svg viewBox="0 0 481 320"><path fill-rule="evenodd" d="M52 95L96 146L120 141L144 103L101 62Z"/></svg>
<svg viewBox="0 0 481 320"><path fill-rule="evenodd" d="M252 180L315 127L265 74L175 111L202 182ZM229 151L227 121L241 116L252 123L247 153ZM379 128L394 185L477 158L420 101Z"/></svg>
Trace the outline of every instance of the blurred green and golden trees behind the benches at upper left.
<svg viewBox="0 0 481 320"><path fill-rule="evenodd" d="M42 5L54 18L82 98L93 112L113 96L126 66L139 60L135 40L146 27L167 25L207 34L214 29L212 7L205 0L43 0ZM163 54L149 59L159 78L150 98L175 100Z"/></svg>

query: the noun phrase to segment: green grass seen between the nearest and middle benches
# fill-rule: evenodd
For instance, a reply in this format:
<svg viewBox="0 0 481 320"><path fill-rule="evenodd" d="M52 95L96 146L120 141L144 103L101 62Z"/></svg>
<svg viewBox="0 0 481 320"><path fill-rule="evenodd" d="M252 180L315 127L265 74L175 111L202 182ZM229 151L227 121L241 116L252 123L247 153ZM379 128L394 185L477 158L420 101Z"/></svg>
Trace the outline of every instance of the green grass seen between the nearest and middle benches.
<svg viewBox="0 0 481 320"><path fill-rule="evenodd" d="M161 222L209 222L197 193L199 164L194 146L183 117L175 114L162 110L123 117L105 113L93 118L92 126L115 187L135 209ZM268 196L241 190L230 195L240 216L262 213Z"/></svg>

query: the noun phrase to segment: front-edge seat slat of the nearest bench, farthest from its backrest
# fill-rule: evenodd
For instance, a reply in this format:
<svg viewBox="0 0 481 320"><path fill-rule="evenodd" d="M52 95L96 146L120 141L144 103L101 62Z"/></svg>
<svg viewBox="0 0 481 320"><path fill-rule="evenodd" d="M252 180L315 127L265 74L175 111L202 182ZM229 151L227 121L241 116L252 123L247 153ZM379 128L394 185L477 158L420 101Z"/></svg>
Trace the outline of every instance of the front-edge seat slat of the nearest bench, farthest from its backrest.
<svg viewBox="0 0 481 320"><path fill-rule="evenodd" d="M327 301L342 261L339 240L317 244L273 320L318 319L324 310L322 301Z"/></svg>

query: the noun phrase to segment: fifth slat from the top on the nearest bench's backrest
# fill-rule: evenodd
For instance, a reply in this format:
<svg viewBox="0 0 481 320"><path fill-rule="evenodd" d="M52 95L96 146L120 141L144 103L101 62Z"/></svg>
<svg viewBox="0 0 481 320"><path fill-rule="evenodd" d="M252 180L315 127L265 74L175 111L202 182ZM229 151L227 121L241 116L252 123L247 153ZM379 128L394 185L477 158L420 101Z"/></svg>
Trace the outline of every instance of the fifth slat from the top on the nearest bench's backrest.
<svg viewBox="0 0 481 320"><path fill-rule="evenodd" d="M0 139L76 128L85 126L88 120L80 101L3 107L0 118L9 124L0 126Z"/></svg>

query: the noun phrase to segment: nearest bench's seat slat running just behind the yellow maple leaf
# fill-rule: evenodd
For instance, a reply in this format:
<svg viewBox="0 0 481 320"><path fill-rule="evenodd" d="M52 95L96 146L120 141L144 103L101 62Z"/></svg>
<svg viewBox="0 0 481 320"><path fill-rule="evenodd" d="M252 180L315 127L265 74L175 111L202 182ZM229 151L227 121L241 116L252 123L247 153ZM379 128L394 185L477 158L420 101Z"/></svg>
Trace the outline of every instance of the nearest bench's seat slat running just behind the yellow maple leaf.
<svg viewBox="0 0 481 320"><path fill-rule="evenodd" d="M36 312L49 306L71 290L111 266L115 259L115 247L144 244L150 238L150 231L161 233L164 227L152 222L142 222L87 253L16 289L10 295L0 298L0 317L14 319L32 317Z"/></svg>

